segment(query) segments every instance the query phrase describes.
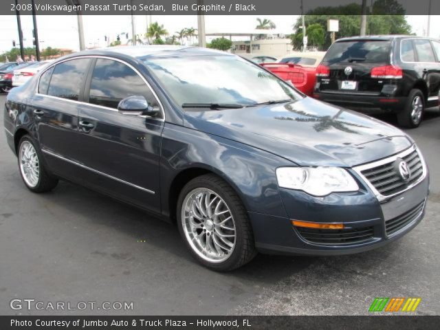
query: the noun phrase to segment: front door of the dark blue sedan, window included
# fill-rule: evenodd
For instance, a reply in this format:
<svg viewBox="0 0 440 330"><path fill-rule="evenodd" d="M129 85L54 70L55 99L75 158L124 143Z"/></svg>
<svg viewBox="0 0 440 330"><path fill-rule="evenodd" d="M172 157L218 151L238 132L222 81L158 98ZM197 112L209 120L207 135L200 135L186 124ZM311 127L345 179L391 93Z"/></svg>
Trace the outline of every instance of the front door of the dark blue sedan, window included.
<svg viewBox="0 0 440 330"><path fill-rule="evenodd" d="M160 212L159 158L163 111L156 118L123 115L118 103L144 96L161 107L146 80L131 65L96 58L80 108L78 161L89 170L85 184L137 206Z"/></svg>

